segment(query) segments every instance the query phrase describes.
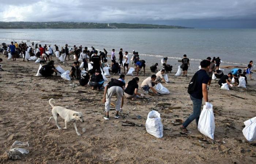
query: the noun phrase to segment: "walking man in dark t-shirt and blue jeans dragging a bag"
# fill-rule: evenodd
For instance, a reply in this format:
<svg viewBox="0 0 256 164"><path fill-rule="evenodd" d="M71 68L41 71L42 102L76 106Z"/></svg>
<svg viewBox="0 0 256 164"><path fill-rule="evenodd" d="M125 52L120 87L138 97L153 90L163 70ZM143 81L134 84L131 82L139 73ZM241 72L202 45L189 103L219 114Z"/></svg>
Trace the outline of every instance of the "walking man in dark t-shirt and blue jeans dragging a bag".
<svg viewBox="0 0 256 164"><path fill-rule="evenodd" d="M201 69L195 73L194 76L197 76L195 88L193 91L190 91L190 98L193 102L193 113L187 118L187 120L181 125L180 129L183 132L188 132L187 126L193 121L196 120L196 125L198 125L199 117L201 114L202 99L204 98L206 108L209 109L212 107L210 102L208 102L208 91L207 84L209 81L209 76L207 71L210 69L211 62L208 60L203 60L200 63ZM192 78L193 79L193 78ZM192 82L193 83L193 82Z"/></svg>

